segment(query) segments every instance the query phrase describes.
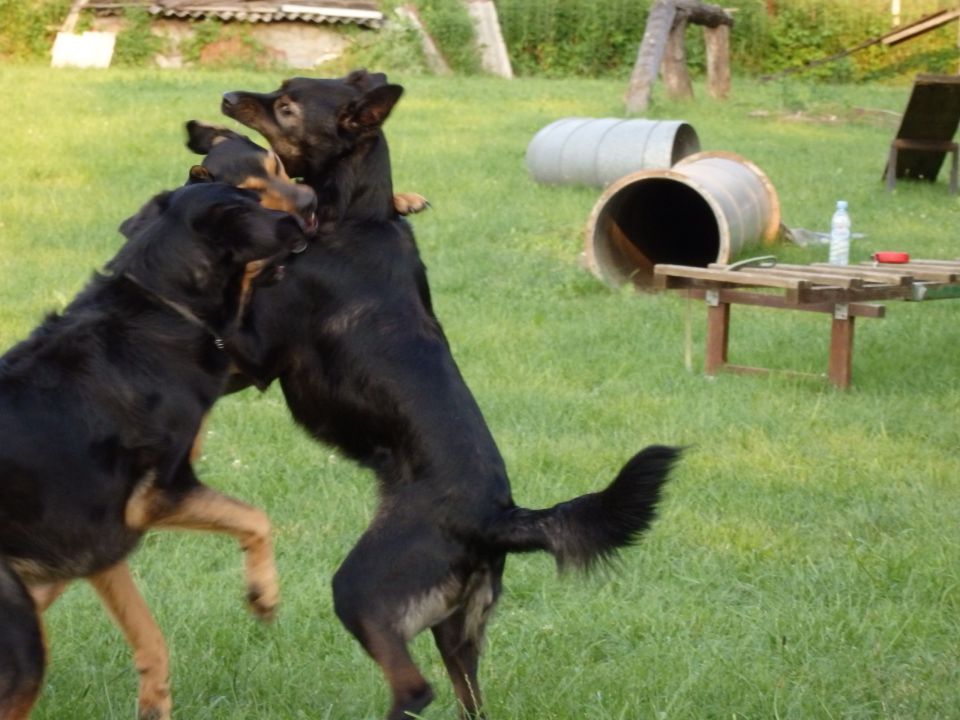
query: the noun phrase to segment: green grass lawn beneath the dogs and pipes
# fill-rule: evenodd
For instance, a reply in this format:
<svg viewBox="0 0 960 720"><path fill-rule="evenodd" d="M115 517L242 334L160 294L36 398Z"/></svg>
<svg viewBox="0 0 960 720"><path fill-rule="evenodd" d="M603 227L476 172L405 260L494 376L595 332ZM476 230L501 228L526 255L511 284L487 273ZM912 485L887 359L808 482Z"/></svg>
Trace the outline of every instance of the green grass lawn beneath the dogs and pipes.
<svg viewBox="0 0 960 720"><path fill-rule="evenodd" d="M58 309L120 245L116 227L195 162L184 121L272 74L0 67L0 340ZM704 309L610 290L580 266L598 188L533 183L524 152L566 116L621 114L625 82L395 77L398 189L437 312L506 457L539 507L601 487L649 443L689 445L644 542L591 577L511 558L481 682L492 718L953 718L960 708L960 303L890 303L857 326L854 387L702 375ZM875 250L960 255L944 178L880 175L909 87L737 81L719 103L656 96L704 149L769 175L784 221L825 230L849 201L854 261ZM226 122L226 121L224 121ZM756 253L757 251L754 251ZM824 248L777 247L811 262ZM684 324L693 369L684 367ZM731 358L821 372L829 318L736 308ZM200 472L266 508L284 604L243 608L227 539L150 534L131 558L171 649L176 715L381 717L376 666L340 627L329 583L366 527L372 478L290 422L275 389L224 399ZM49 611L35 717L129 718L136 673L90 589ZM415 654L455 716L429 636Z"/></svg>

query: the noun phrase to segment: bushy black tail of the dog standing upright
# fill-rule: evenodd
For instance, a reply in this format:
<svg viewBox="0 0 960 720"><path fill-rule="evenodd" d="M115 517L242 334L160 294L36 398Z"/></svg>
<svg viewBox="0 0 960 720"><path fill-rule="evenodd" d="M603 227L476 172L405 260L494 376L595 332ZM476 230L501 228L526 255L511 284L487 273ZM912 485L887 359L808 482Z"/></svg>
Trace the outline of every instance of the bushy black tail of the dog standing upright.
<svg viewBox="0 0 960 720"><path fill-rule="evenodd" d="M546 550L561 569L588 569L608 560L653 522L660 491L680 453L651 445L634 455L605 490L547 510L512 508L493 523L487 540L504 552Z"/></svg>

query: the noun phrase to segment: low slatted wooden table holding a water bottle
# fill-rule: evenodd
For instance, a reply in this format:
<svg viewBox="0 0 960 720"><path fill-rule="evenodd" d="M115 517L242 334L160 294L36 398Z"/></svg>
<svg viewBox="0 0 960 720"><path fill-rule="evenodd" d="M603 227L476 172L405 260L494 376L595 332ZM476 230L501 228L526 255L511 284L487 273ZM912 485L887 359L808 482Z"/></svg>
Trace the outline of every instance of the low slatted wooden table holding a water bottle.
<svg viewBox="0 0 960 720"><path fill-rule="evenodd" d="M706 268L657 265L654 287L681 290L707 303L704 371L763 373L767 368L728 362L730 308L753 305L833 316L827 377L838 388L850 386L853 331L858 317L882 318L889 300L960 298L960 261L914 260L899 265L713 264Z"/></svg>

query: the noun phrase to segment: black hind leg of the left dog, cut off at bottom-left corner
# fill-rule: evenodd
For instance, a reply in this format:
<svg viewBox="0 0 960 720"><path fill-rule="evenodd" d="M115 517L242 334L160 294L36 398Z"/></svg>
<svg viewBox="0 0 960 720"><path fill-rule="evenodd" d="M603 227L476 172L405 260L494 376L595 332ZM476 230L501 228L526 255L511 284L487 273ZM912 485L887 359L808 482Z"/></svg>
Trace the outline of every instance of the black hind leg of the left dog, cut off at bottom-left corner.
<svg viewBox="0 0 960 720"><path fill-rule="evenodd" d="M26 720L43 685L43 627L27 588L0 558L0 720Z"/></svg>

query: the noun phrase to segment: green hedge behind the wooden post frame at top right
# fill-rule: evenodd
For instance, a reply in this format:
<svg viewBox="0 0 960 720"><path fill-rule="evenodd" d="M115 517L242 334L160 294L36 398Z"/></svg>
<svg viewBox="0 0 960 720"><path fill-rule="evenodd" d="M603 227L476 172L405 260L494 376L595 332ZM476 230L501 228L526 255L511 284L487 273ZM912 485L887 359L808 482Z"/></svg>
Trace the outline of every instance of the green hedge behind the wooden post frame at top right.
<svg viewBox="0 0 960 720"><path fill-rule="evenodd" d="M636 61L652 0L498 0L514 69L521 75L626 76ZM726 0L734 10L734 72L767 74L804 65L890 29L888 0ZM901 21L952 7L948 0L914 0ZM818 66L815 76L864 80L915 72L952 73L960 53L949 24L902 45L874 46ZM691 72L703 72L699 28L687 32Z"/></svg>

